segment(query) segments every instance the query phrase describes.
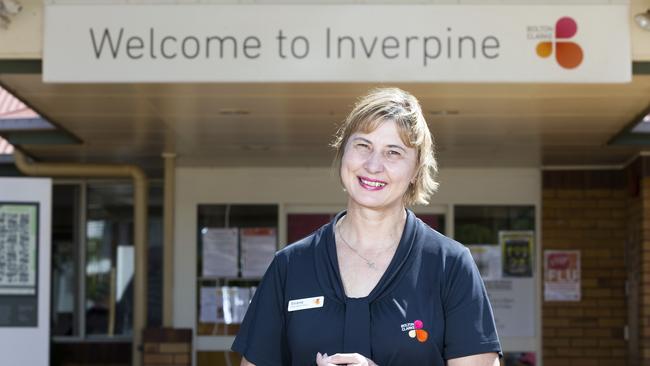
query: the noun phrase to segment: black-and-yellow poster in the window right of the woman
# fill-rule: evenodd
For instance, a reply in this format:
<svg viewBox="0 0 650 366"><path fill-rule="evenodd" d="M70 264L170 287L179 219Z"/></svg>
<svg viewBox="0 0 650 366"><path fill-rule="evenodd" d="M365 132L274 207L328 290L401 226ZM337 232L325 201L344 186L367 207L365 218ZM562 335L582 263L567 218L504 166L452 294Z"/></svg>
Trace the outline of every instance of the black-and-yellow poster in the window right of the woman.
<svg viewBox="0 0 650 366"><path fill-rule="evenodd" d="M533 276L533 231L499 231L503 277Z"/></svg>

